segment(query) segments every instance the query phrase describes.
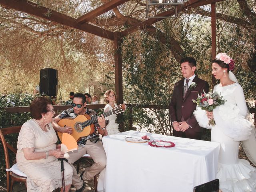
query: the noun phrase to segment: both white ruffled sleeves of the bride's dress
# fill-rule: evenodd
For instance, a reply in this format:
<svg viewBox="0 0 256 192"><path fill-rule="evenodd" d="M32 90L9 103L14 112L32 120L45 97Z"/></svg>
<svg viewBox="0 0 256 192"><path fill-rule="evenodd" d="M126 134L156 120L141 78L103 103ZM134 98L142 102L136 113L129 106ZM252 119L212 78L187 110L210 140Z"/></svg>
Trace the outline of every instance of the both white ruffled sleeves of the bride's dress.
<svg viewBox="0 0 256 192"><path fill-rule="evenodd" d="M216 86L214 90L215 88ZM252 122L245 119L247 107L244 93L240 85L236 87L233 95L236 105L225 102L225 104L217 106L213 110L215 126L220 128L225 135L233 138L235 141L247 140L250 137L253 125ZM212 128L212 126L208 125L205 110L197 106L194 111L194 116L201 127Z"/></svg>

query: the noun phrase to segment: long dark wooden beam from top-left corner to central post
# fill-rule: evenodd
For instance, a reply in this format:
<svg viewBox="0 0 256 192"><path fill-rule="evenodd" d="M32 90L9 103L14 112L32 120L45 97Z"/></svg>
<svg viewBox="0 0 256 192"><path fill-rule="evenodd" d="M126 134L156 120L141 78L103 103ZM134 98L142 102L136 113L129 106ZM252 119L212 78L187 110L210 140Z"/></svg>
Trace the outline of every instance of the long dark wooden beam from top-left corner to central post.
<svg viewBox="0 0 256 192"><path fill-rule="evenodd" d="M9 8L22 11L24 13L34 15L36 17L44 18L46 20L50 20L64 26L68 26L70 28L78 29L83 32L88 32L103 38L114 40L114 33L111 31L102 29L88 23L78 24L76 22L76 19L70 16L66 16L43 6L38 6L37 4L34 4L33 2L27 0L0 0L0 4Z"/></svg>

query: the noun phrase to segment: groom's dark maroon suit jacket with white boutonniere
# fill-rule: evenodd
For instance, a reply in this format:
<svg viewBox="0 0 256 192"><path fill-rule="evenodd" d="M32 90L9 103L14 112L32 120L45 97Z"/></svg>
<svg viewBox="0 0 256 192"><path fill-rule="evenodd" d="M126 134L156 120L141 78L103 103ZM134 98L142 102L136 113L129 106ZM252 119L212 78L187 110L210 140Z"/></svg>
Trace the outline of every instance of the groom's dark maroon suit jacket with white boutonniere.
<svg viewBox="0 0 256 192"><path fill-rule="evenodd" d="M172 99L169 105L169 115L171 122L174 121L181 121L183 116L184 121L186 121L193 131L195 132L202 132L202 127L198 125L196 118L193 114L194 110L196 110L196 104L192 102L192 99L197 99L198 94L202 94L204 92L208 93L209 91L209 84L208 82L198 78L196 76L193 79L197 85L195 88L190 88L183 100L183 86L184 86L184 78L174 85L174 90L172 93ZM190 128L188 128L190 129Z"/></svg>

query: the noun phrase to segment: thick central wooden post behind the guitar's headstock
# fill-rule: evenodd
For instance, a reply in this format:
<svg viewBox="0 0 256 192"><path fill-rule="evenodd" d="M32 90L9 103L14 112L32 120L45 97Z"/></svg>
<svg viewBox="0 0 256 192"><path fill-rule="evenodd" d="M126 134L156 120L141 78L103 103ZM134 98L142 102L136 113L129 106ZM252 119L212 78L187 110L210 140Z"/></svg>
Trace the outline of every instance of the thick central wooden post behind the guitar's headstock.
<svg viewBox="0 0 256 192"><path fill-rule="evenodd" d="M120 32L114 32L114 59L115 59L115 88L116 102L123 103L123 76L122 76L122 39ZM120 118L122 118L120 114ZM124 131L124 123L120 123L120 131Z"/></svg>

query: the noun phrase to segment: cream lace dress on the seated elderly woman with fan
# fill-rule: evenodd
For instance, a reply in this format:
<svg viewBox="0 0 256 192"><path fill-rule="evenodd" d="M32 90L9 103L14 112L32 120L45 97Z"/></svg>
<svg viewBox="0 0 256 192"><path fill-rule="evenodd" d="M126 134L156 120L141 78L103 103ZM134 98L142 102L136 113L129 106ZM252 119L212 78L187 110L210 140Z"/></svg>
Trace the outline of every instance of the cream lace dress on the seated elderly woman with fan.
<svg viewBox="0 0 256 192"><path fill-rule="evenodd" d="M49 156L47 159L26 160L23 153L23 148L34 147L35 152L56 149L57 136L52 124L48 125L48 132L44 132L34 119L28 120L22 125L18 136L17 164L18 168L28 176L28 192L51 192L62 187L60 161L57 158ZM67 186L72 183L73 170L65 161L64 169Z"/></svg>

